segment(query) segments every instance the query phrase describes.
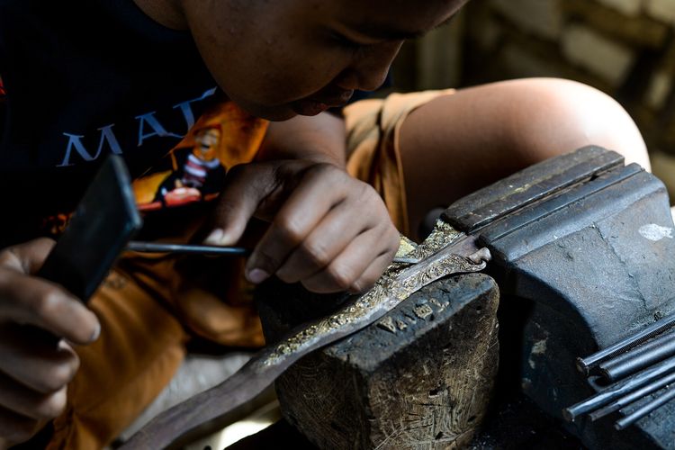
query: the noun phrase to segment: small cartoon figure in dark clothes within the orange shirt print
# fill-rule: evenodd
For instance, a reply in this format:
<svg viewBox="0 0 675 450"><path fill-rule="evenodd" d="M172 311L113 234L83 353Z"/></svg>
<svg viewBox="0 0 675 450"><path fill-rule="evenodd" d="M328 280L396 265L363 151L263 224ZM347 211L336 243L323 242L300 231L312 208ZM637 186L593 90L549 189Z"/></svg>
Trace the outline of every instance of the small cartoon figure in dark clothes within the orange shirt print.
<svg viewBox="0 0 675 450"><path fill-rule="evenodd" d="M220 192L225 168L216 157L220 141L220 126L213 125L197 131L193 148L175 151L180 169L169 176L157 193L157 200L165 206L180 206L199 202Z"/></svg>

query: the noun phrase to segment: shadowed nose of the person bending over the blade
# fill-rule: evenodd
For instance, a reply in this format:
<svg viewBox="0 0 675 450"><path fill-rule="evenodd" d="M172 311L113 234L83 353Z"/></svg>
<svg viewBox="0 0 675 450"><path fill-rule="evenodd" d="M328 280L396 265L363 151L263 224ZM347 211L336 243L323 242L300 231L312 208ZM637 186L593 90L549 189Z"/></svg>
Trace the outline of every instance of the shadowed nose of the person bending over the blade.
<svg viewBox="0 0 675 450"><path fill-rule="evenodd" d="M336 84L343 89L374 91L386 80L401 45L401 41L386 42L365 49L338 77Z"/></svg>

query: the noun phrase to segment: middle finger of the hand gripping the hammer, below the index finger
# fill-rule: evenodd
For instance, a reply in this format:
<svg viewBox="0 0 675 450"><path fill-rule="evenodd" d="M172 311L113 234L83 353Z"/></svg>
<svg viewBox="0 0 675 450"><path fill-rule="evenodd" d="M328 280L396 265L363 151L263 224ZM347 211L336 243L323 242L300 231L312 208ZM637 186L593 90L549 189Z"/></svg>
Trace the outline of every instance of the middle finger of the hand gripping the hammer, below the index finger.
<svg viewBox="0 0 675 450"><path fill-rule="evenodd" d="M1 329L0 371L33 391L58 392L75 376L79 358L66 342L45 345L30 333L17 325Z"/></svg>

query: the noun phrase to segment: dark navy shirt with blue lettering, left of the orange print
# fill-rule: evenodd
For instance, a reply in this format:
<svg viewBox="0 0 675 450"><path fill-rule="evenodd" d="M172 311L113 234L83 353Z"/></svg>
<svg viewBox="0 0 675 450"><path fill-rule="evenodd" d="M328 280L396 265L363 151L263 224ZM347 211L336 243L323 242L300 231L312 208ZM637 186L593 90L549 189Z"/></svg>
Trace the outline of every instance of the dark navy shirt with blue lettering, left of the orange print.
<svg viewBox="0 0 675 450"><path fill-rule="evenodd" d="M105 155L142 174L220 95L189 32L131 0L0 0L0 77L0 232L22 238L72 208Z"/></svg>

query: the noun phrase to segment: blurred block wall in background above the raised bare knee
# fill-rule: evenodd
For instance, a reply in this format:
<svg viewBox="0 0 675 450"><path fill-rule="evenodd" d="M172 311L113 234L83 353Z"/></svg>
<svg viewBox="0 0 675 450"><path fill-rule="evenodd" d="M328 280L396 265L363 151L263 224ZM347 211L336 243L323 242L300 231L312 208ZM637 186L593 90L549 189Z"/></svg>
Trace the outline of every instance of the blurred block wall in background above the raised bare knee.
<svg viewBox="0 0 675 450"><path fill-rule="evenodd" d="M633 116L675 202L675 0L471 0L406 44L398 91L558 76L612 95Z"/></svg>

